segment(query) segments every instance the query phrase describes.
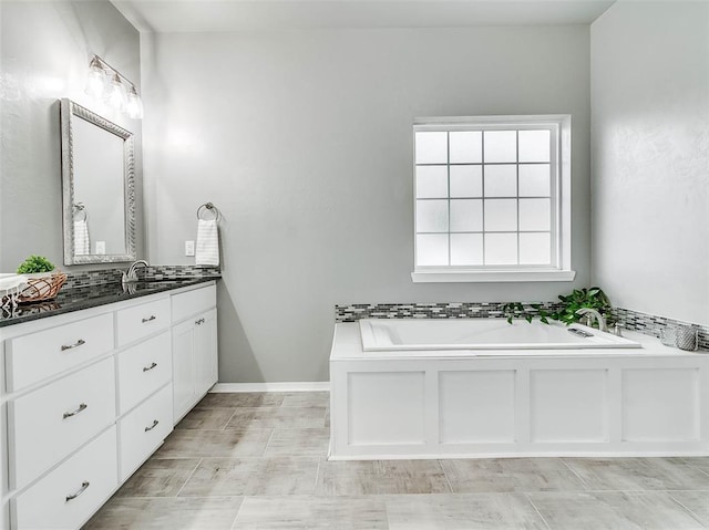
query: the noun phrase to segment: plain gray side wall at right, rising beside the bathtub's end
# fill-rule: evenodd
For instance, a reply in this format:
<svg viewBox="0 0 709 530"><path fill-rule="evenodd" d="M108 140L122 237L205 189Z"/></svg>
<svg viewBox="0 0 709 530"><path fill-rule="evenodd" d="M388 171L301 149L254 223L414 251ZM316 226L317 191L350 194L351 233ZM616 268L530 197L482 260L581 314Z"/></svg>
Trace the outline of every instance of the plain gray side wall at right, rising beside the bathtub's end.
<svg viewBox="0 0 709 530"><path fill-rule="evenodd" d="M709 4L592 27L593 272L617 305L709 324Z"/></svg>

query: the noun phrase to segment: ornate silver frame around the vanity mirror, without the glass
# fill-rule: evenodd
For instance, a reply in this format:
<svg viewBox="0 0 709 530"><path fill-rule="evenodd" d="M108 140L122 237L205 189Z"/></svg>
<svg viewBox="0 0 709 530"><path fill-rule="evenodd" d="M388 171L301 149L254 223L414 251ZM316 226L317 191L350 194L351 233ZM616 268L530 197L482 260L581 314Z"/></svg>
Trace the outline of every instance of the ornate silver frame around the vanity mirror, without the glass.
<svg viewBox="0 0 709 530"><path fill-rule="evenodd" d="M74 150L73 122L84 119L123 139L123 189L125 211L125 252L122 254L74 254ZM64 227L64 264L114 263L135 261L135 169L133 133L95 114L71 100L61 100L62 126L62 201Z"/></svg>

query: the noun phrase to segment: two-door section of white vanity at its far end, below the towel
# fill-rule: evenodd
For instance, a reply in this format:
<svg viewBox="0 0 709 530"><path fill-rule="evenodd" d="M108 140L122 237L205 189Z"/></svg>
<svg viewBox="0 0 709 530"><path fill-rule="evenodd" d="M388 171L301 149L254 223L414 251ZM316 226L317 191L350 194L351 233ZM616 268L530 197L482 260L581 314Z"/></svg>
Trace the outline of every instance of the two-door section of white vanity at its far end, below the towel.
<svg viewBox="0 0 709 530"><path fill-rule="evenodd" d="M217 382L216 287L175 294L172 304L176 424Z"/></svg>

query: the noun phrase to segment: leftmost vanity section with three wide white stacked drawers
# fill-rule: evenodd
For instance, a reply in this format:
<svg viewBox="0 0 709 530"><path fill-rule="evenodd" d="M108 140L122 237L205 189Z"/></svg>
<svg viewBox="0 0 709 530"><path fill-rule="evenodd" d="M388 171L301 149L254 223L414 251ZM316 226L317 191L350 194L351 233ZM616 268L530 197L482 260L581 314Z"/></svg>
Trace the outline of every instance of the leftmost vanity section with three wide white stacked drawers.
<svg viewBox="0 0 709 530"><path fill-rule="evenodd" d="M11 529L78 528L119 486L111 305L0 329Z"/></svg>

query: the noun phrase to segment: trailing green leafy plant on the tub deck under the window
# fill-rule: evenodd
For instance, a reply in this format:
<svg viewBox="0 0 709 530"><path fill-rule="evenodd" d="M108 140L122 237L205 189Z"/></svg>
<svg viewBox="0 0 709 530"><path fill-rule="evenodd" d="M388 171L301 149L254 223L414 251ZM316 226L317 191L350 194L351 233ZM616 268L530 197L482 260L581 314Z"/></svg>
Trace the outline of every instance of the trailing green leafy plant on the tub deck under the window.
<svg viewBox="0 0 709 530"><path fill-rule="evenodd" d="M584 315L576 314L576 311L582 308L595 309L606 318L606 321L613 322L610 300L599 287L574 289L571 294L559 294L558 299L562 301L562 308L555 312L546 311L538 303L530 303L525 306L522 302L505 303L502 310L510 324L513 319L524 319L532 322L538 318L545 324L548 324L548 319L552 319L569 325L584 318Z"/></svg>

